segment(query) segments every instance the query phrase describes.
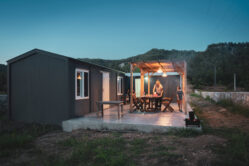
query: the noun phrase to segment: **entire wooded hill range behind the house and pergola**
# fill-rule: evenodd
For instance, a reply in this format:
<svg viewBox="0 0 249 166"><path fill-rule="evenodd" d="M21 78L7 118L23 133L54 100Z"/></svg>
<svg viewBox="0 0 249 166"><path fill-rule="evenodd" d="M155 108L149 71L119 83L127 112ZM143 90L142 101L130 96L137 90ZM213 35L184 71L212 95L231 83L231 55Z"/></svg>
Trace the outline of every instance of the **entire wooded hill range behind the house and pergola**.
<svg viewBox="0 0 249 166"><path fill-rule="evenodd" d="M196 87L214 83L214 68L218 85L228 89L233 86L233 74L237 75L237 86L249 90L249 43L211 44L205 51L179 51L151 49L150 51L121 60L82 59L91 63L129 72L129 62L146 60L186 60L188 79Z"/></svg>

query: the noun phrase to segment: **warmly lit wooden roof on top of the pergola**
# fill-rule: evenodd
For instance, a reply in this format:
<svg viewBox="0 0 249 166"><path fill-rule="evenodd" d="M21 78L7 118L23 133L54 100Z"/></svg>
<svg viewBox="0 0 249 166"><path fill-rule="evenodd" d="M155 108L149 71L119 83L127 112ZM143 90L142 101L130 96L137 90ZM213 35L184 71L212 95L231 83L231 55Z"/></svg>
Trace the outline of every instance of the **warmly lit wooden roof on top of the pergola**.
<svg viewBox="0 0 249 166"><path fill-rule="evenodd" d="M163 72L180 72L184 73L184 67L186 65L185 61L142 61L142 62L132 62L131 63L134 67L138 67L145 73L155 73L159 69Z"/></svg>

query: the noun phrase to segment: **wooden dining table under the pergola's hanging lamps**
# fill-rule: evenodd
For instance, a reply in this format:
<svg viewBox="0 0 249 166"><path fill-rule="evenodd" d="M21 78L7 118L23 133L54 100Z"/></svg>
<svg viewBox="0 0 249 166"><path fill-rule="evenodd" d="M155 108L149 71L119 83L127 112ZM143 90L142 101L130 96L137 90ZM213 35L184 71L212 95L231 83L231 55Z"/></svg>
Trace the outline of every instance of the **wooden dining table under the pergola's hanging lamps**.
<svg viewBox="0 0 249 166"><path fill-rule="evenodd" d="M147 111L156 111L156 100L158 99L162 99L162 96L158 96L158 95L144 95L140 97L141 100L143 101L143 110ZM146 101L149 101L148 103L148 108L146 108ZM158 103L160 104L160 103Z"/></svg>

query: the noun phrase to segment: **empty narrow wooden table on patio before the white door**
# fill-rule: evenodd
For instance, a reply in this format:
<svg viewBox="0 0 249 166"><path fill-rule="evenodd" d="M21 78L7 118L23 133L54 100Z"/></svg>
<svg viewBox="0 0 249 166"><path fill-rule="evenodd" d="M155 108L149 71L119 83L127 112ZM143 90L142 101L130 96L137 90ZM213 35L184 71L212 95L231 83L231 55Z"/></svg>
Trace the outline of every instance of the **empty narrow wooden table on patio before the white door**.
<svg viewBox="0 0 249 166"><path fill-rule="evenodd" d="M123 101L97 101L96 104L98 107L98 113L99 111L101 111L102 118L104 117L104 109L103 109L104 104L117 105L118 106L118 118L120 118L120 114L121 116L123 116L123 106L124 106ZM120 107L121 107L121 113L120 113Z"/></svg>

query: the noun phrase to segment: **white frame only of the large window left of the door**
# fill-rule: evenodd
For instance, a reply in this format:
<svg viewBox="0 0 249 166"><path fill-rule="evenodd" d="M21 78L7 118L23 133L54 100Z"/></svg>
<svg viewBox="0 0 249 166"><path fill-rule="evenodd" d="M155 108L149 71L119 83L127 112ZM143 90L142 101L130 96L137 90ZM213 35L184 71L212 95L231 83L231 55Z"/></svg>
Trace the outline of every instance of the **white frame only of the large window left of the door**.
<svg viewBox="0 0 249 166"><path fill-rule="evenodd" d="M84 87L84 81L82 81L82 96L77 96L77 72L81 72L82 73L82 80L84 80L84 73L88 73L88 96L85 97L84 96L84 90L85 90L85 87ZM90 88L90 85L89 85L89 70L85 70L85 69L75 69L75 99L76 100L80 100L80 99L89 99L89 88Z"/></svg>

